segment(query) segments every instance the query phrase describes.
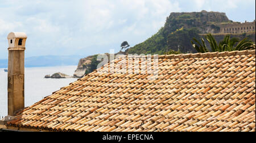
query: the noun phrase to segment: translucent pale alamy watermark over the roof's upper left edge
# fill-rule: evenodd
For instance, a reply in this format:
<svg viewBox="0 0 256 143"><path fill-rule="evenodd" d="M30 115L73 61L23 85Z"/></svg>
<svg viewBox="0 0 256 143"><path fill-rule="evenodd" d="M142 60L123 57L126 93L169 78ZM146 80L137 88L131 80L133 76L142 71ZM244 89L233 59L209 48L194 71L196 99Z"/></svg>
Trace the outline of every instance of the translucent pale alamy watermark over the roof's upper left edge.
<svg viewBox="0 0 256 143"><path fill-rule="evenodd" d="M101 61L97 66L98 73L122 73L122 74L149 74L150 79L157 79L158 54L98 54L97 61ZM110 61L110 62L109 62Z"/></svg>

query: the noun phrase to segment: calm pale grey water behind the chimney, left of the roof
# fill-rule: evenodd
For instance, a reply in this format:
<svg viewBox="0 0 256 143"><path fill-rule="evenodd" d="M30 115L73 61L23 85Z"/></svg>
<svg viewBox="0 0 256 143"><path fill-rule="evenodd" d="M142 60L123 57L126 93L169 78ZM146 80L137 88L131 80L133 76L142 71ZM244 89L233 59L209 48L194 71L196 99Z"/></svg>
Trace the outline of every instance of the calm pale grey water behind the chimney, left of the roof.
<svg viewBox="0 0 256 143"><path fill-rule="evenodd" d="M47 74L57 72L73 75L77 66L56 66L44 68L25 68L25 107L42 100L61 87L77 81L76 78L46 79ZM0 118L7 115L7 73L0 68Z"/></svg>

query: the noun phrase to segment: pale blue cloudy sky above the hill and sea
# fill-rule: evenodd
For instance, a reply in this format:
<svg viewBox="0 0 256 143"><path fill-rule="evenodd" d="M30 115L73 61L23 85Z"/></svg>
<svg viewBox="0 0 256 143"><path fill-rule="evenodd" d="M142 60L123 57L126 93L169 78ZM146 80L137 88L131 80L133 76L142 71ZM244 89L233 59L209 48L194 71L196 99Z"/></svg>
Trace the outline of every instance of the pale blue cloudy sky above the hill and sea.
<svg viewBox="0 0 256 143"><path fill-rule="evenodd" d="M8 58L10 32L27 33L26 57L92 55L142 43L171 12L201 10L252 22L255 0L0 0L0 59Z"/></svg>

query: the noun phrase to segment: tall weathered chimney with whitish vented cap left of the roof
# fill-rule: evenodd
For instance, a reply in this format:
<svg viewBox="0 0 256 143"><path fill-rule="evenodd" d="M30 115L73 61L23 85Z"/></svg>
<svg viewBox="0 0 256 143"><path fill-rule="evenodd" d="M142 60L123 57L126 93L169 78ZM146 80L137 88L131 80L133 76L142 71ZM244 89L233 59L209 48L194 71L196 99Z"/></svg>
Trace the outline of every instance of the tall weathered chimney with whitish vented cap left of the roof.
<svg viewBox="0 0 256 143"><path fill-rule="evenodd" d="M26 33L11 32L8 37L8 115L24 108L24 51Z"/></svg>

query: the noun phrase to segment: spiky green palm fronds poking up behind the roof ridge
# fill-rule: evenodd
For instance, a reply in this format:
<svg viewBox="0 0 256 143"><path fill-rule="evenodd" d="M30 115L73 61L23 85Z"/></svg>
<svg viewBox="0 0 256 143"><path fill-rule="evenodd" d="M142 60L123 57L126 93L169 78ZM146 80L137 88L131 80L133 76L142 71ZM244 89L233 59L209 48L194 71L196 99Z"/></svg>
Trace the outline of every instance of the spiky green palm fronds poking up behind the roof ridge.
<svg viewBox="0 0 256 143"><path fill-rule="evenodd" d="M205 39L207 39L212 52L243 51L247 49L248 50L255 49L255 46L254 46L255 44L253 43L253 41L248 40L247 38L239 41L239 39L236 37L233 37L232 39L230 39L230 35L226 35L224 39L217 44L217 41L209 33L207 36L205 36ZM197 43L196 45L193 41L191 41L193 47L196 49L197 52L199 53L209 52L209 49L205 45L203 38L201 39L202 43L200 43L195 38L193 38L193 40Z"/></svg>

